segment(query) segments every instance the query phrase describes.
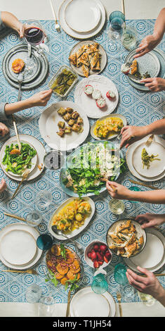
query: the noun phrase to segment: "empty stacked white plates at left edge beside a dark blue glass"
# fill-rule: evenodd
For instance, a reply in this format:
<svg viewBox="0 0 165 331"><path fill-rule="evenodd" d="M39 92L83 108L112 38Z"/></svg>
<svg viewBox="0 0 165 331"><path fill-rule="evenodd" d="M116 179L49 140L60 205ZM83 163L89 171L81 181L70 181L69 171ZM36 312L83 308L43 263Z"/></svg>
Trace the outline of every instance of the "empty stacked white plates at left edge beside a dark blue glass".
<svg viewBox="0 0 165 331"><path fill-rule="evenodd" d="M23 223L13 223L0 232L0 259L8 268L24 270L34 266L42 251L37 247L39 232Z"/></svg>

